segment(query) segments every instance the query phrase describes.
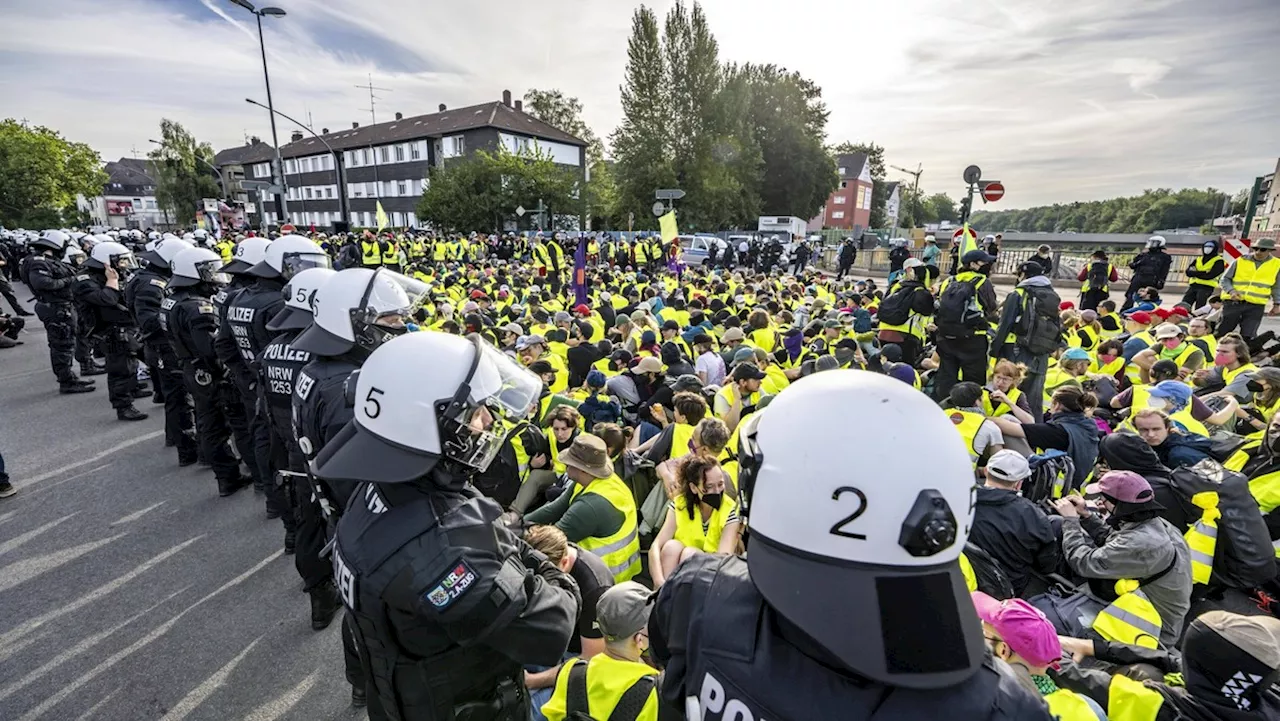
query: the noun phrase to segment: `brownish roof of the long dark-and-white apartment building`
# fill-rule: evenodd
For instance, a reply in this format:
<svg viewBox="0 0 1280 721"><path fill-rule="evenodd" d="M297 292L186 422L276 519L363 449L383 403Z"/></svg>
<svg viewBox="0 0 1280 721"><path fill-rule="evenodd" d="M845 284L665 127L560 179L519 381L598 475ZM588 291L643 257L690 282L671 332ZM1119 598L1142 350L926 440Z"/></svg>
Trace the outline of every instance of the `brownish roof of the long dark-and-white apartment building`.
<svg viewBox="0 0 1280 721"><path fill-rule="evenodd" d="M415 115L399 120L378 123L376 126L362 126L360 128L347 128L330 132L324 136L325 142L334 150L351 147L369 147L371 145L387 145L425 137L442 137L451 133L470 131L475 128L498 128L526 136L534 136L549 141L564 142L586 147L586 141L571 136L559 128L549 126L527 113L508 108L500 101L484 102L467 108L452 108L443 113L430 113ZM297 142L280 146L283 158L300 158L325 152L325 146L314 136L307 136ZM218 152L215 161L219 165L261 163L271 158L271 145L262 142L232 147Z"/></svg>

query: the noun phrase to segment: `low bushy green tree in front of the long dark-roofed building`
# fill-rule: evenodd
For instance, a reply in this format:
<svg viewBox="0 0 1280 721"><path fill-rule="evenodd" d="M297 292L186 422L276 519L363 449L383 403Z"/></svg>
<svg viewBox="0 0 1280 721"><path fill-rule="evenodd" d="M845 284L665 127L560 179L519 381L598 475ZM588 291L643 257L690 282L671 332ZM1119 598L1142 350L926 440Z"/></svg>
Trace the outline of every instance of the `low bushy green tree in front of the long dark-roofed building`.
<svg viewBox="0 0 1280 721"><path fill-rule="evenodd" d="M552 219L576 220L581 206L577 184L577 174L547 154L477 151L457 163L431 168L417 216L440 231L498 232L509 223L532 223L531 214L517 218L516 207L534 209L541 202Z"/></svg>

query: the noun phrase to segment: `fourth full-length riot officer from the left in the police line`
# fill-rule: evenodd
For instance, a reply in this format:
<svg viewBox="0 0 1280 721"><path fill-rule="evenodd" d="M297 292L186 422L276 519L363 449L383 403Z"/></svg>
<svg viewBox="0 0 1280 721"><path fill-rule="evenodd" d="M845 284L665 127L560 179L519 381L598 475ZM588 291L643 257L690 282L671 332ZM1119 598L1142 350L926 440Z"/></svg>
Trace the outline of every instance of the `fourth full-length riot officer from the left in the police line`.
<svg viewBox="0 0 1280 721"><path fill-rule="evenodd" d="M229 278L220 273L223 265L209 248L187 248L173 259L169 297L161 304L163 325L173 351L182 361L182 378L196 405L196 434L205 458L214 467L218 494L227 497L248 485L239 462L232 453L232 435L225 410L228 403L228 369L218 360L214 338L218 333L218 310L212 296Z"/></svg>

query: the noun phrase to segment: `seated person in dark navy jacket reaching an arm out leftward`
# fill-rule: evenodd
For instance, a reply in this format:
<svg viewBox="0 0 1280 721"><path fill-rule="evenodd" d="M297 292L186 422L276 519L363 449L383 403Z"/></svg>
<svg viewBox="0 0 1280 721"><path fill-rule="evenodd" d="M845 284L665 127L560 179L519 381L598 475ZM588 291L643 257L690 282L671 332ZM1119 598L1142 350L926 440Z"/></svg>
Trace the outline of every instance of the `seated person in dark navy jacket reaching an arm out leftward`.
<svg viewBox="0 0 1280 721"><path fill-rule="evenodd" d="M1009 416L991 419L1006 438L1024 438L1038 451L1066 451L1075 465L1071 487L1079 488L1098 460L1098 426L1093 423L1097 406L1093 393L1076 385L1053 392L1044 423L1019 423Z"/></svg>

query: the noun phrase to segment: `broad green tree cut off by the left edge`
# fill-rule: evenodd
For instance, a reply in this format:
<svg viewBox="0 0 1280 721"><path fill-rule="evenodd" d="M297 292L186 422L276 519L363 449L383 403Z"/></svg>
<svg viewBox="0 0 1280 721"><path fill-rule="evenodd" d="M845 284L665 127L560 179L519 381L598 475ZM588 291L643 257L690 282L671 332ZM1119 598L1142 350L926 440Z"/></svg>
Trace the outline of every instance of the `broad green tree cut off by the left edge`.
<svg viewBox="0 0 1280 721"><path fill-rule="evenodd" d="M0 225L52 228L76 218L76 196L102 195L97 152L42 126L0 122Z"/></svg>

